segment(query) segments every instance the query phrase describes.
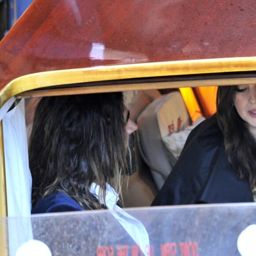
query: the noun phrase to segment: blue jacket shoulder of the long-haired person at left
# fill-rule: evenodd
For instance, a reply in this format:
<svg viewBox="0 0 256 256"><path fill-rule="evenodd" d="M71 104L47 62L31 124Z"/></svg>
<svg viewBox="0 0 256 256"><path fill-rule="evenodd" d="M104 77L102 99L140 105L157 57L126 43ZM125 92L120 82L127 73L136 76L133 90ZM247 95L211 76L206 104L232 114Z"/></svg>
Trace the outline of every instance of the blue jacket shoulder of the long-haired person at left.
<svg viewBox="0 0 256 256"><path fill-rule="evenodd" d="M31 213L49 213L49 212L65 212L65 211L83 211L80 206L72 197L64 192L56 191L51 193L45 198L40 198Z"/></svg>

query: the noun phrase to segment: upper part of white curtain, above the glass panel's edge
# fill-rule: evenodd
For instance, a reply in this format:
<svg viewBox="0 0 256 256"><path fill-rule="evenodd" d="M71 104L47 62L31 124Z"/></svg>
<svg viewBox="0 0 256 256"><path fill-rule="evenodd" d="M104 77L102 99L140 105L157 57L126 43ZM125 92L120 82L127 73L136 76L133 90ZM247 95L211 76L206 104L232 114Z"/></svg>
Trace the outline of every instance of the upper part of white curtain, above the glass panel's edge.
<svg viewBox="0 0 256 256"><path fill-rule="evenodd" d="M8 216L30 216L32 178L28 162L24 101L3 118Z"/></svg>

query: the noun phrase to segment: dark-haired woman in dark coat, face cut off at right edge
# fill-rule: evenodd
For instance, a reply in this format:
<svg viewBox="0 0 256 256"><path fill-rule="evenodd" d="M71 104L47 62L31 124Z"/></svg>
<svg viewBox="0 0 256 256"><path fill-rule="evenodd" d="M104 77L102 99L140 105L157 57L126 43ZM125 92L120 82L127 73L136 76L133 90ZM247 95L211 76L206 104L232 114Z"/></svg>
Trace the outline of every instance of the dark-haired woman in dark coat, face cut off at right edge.
<svg viewBox="0 0 256 256"><path fill-rule="evenodd" d="M188 136L152 205L253 202L256 85L218 87L217 113Z"/></svg>

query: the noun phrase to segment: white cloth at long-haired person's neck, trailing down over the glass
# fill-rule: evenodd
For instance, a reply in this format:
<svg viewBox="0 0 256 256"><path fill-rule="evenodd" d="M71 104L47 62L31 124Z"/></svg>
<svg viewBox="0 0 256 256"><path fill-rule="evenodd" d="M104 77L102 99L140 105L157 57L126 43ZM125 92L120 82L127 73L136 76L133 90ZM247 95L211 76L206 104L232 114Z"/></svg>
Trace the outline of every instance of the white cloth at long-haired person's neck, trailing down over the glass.
<svg viewBox="0 0 256 256"><path fill-rule="evenodd" d="M90 192L98 198L100 186L96 183L93 183L90 188ZM132 237L132 239L139 245L140 249L144 255L150 255L150 246L149 246L149 237L147 230L143 224L133 218L132 215L129 215L122 208L117 205L119 197L117 192L107 184L107 193L106 193L106 206L108 207L110 213L117 219L117 221L124 227L127 233ZM104 203L104 202L102 202Z"/></svg>

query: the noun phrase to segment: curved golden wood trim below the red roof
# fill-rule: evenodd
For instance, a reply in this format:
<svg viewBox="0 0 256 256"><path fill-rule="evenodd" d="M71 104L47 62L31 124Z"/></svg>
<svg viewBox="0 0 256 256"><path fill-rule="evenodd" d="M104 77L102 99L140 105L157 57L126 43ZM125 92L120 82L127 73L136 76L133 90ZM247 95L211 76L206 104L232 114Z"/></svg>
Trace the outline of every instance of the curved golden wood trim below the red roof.
<svg viewBox="0 0 256 256"><path fill-rule="evenodd" d="M21 94L24 91L40 89L49 86L141 77L146 78L167 75L246 72L255 70L256 57L239 57L127 64L41 72L25 75L8 83L0 91L0 107L4 104L4 102L6 102L14 95ZM115 85L113 87L116 88L115 90L133 90L130 88L124 88L123 86ZM111 87L108 88L110 89ZM99 90L102 89L98 87L97 92L99 92Z"/></svg>

